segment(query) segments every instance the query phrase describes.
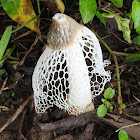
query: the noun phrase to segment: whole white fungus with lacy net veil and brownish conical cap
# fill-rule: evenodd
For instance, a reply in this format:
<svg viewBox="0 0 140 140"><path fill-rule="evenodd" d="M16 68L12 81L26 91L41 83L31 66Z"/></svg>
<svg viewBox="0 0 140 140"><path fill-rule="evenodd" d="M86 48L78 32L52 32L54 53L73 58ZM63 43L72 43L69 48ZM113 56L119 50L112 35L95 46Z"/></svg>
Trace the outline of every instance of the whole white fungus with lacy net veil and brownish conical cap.
<svg viewBox="0 0 140 140"><path fill-rule="evenodd" d="M37 113L54 105L69 114L94 110L92 99L110 81L95 34L73 18L57 13L47 35L48 45L35 67L32 86Z"/></svg>

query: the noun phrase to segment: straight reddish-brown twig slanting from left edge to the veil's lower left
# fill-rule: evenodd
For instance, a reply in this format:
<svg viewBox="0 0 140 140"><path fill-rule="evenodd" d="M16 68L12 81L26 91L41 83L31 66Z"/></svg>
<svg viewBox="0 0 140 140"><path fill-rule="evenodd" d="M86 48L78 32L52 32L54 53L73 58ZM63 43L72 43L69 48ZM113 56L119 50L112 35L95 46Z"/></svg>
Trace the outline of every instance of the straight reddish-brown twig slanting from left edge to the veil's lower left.
<svg viewBox="0 0 140 140"><path fill-rule="evenodd" d="M12 117L2 126L0 127L0 133L10 124L12 123L18 115L22 112L22 110L28 105L29 101L33 99L33 94L28 97L26 101L17 109L17 111L12 115Z"/></svg>

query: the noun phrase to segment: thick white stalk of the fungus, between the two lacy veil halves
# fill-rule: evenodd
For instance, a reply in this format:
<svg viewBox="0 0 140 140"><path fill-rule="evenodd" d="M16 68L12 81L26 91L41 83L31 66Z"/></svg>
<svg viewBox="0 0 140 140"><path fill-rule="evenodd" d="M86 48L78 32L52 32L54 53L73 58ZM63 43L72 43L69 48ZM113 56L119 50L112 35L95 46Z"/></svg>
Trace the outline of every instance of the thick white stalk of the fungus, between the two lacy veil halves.
<svg viewBox="0 0 140 140"><path fill-rule="evenodd" d="M94 109L88 68L84 59L80 45L74 44L66 49L66 60L68 63L68 73L70 89L68 94L68 104L80 113Z"/></svg>

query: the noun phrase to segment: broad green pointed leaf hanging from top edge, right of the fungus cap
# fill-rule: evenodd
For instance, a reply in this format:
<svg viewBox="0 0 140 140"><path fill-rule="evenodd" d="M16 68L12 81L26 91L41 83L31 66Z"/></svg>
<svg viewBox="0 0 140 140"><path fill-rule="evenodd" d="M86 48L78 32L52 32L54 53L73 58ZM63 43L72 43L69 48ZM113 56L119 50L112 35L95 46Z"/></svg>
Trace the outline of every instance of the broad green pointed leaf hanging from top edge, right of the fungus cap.
<svg viewBox="0 0 140 140"><path fill-rule="evenodd" d="M80 13L84 24L88 23L96 14L96 0L79 0Z"/></svg>

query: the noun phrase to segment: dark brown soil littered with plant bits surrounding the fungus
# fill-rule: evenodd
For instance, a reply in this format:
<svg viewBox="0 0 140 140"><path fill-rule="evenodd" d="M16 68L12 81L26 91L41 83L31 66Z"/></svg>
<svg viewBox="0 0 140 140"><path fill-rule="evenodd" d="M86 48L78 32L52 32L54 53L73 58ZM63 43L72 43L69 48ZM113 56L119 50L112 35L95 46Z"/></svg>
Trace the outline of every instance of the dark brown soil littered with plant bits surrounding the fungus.
<svg viewBox="0 0 140 140"><path fill-rule="evenodd" d="M36 7L36 2L33 1L34 7ZM72 6L73 5L73 6ZM41 2L41 8L45 9L41 15L41 18L50 18L57 11L46 10L46 5ZM48 6L48 5L47 5ZM69 7L72 6L72 9ZM128 6L130 6L128 4ZM52 7L53 9L54 7ZM36 8L37 9L37 8ZM37 12L37 10L36 10ZM4 13L2 7L0 7L0 13ZM80 21L81 17L78 11L77 5L74 5L72 1L69 1L66 6L66 14L72 16L77 21ZM49 16L47 16L49 15ZM17 25L14 21L12 21L6 14L0 15L0 37L2 36L4 30L8 25ZM50 26L50 21L41 20L41 26L47 26L43 30L41 30L42 35L46 35ZM118 31L117 24L114 19L106 19L107 27L105 27L99 19L96 17L91 23L86 24L87 27L93 28L108 44L108 46L113 51L125 52L125 53L134 53L137 52L136 46L124 43L122 40L122 32ZM36 33L31 33L26 35L20 39L12 41L17 38L21 34L27 32L27 28L23 28L17 33L12 34L11 41L8 45L8 48L11 48L15 42L17 43L17 47L14 50L12 56L19 58L19 61L14 60L6 60L3 65L3 69L5 73L0 77L0 127L2 127L5 122L12 117L12 115L17 111L17 109L22 105L24 101L28 99L30 95L33 94L32 90L32 73L38 58L40 57L43 49L43 43L38 40L37 44L32 48L31 52L27 55L25 61L22 65L19 62L23 59L25 54L30 49L33 41L36 38ZM113 34L112 34L113 33ZM115 35L114 35L115 34ZM119 40L117 37L121 40ZM136 33L133 31L131 34L132 38L136 36ZM46 43L46 40L44 40ZM104 59L109 58L109 52L101 43L103 57ZM137 46L138 47L138 46ZM126 108L124 112L128 115L121 115L121 117L127 118L128 120L137 121L134 119L134 116L139 118L140 115L140 107L139 101L140 99L140 62L131 62L124 63L125 58L123 56L117 56L119 68L120 68L120 76L121 76L121 90L122 90L122 98L123 102L126 104ZM14 62L14 63L13 63ZM14 66L17 66L14 69ZM116 107L114 108L113 114L117 114L117 79L115 72L115 64L113 58L111 58L111 65L107 67L108 70L112 72L112 80L110 83L106 85L111 86L116 90L115 98L112 100ZM5 85L4 85L5 84ZM15 95L14 95L15 94ZM135 97L137 97L137 99ZM97 97L94 100L95 107L101 104L102 95ZM96 115L95 115L96 116ZM71 124L71 127L65 128L64 131L58 131L57 129L52 129L52 131L44 131L39 127L40 123L56 123L57 121L63 121L65 123L65 119L69 118L68 114L63 111L58 110L56 107L49 109L44 114L37 114L34 110L33 99L29 101L27 106L23 109L23 111L17 116L15 121L10 123L0 133L0 140L21 140L21 139L29 139L29 140L117 140L118 133L115 132L117 126L110 125L106 121L102 121L98 117L93 119L91 116L87 116L88 121L82 118L83 125L79 124ZM108 118L108 116L107 116ZM72 118L72 120L75 118ZM97 119L97 120L96 120ZM72 121L71 120L71 121ZM79 120L78 120L79 121ZM57 125L57 124L56 124ZM60 125L58 123L58 125ZM64 125L67 127L67 124ZM59 128L59 127L58 127Z"/></svg>

